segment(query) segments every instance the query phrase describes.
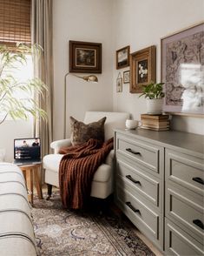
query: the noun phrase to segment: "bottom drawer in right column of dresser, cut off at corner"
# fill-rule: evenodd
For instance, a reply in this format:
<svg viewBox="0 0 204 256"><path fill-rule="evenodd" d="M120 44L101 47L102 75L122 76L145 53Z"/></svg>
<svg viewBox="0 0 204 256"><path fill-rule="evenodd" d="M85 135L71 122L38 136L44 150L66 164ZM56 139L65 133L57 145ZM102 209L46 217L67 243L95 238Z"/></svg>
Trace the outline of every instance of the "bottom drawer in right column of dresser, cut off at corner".
<svg viewBox="0 0 204 256"><path fill-rule="evenodd" d="M165 252L167 255L198 256L204 248L197 240L165 218Z"/></svg>

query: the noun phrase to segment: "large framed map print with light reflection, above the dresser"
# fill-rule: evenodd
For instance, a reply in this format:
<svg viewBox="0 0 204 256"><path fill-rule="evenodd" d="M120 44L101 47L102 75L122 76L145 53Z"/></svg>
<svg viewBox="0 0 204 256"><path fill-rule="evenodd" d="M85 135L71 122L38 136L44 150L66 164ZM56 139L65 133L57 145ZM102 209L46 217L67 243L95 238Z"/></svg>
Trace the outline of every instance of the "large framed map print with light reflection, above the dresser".
<svg viewBox="0 0 204 256"><path fill-rule="evenodd" d="M161 81L163 111L204 115L204 22L161 38Z"/></svg>

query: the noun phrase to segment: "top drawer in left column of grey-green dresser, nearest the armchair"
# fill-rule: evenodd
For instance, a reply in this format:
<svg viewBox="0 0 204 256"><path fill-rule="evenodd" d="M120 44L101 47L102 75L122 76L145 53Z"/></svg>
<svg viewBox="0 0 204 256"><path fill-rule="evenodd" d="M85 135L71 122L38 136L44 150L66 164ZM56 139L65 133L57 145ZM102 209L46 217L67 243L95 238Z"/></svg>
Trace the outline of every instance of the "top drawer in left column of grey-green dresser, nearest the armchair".
<svg viewBox="0 0 204 256"><path fill-rule="evenodd" d="M130 158L156 173L161 172L160 151L160 147L148 144L139 139L123 137L122 135L116 137L116 153Z"/></svg>

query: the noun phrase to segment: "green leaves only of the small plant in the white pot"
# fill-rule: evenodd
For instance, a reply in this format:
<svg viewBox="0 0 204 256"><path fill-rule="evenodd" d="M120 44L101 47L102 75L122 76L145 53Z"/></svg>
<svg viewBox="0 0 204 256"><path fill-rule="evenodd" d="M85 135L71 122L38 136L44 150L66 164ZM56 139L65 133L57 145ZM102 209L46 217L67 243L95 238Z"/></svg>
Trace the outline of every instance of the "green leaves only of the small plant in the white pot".
<svg viewBox="0 0 204 256"><path fill-rule="evenodd" d="M165 84L165 83L156 84L156 83L152 82L151 84L144 85L143 92L141 93L139 98L143 95L145 96L145 98L149 98L149 99L164 98L165 94L164 94L163 88L162 88L163 84Z"/></svg>

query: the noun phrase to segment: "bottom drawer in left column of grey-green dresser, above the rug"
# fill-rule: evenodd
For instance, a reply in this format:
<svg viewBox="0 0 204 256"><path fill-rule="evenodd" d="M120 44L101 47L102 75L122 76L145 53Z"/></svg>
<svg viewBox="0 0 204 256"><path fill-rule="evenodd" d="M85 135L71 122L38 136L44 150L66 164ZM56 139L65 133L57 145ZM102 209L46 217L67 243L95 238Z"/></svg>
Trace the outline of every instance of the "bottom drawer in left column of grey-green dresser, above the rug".
<svg viewBox="0 0 204 256"><path fill-rule="evenodd" d="M116 186L117 205L149 239L161 242L161 216L152 211L141 200L135 198L123 186Z"/></svg>

